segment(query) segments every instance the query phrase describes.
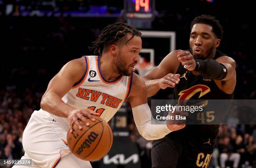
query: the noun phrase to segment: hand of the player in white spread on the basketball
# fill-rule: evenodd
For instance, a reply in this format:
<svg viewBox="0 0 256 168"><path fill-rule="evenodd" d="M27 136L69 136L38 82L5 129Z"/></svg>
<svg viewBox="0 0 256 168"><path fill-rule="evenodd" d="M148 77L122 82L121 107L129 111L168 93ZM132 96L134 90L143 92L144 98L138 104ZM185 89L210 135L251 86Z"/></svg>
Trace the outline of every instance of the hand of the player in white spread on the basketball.
<svg viewBox="0 0 256 168"><path fill-rule="evenodd" d="M94 112L90 109L73 109L71 112L69 112L68 120L69 120L69 130L72 133L72 125L73 123L77 125L79 130L82 130L82 126L79 124L78 119L82 120L86 126L89 126L89 122L85 119L85 117L89 118L92 121L95 121L95 118L92 117L92 115L99 116L97 112Z"/></svg>

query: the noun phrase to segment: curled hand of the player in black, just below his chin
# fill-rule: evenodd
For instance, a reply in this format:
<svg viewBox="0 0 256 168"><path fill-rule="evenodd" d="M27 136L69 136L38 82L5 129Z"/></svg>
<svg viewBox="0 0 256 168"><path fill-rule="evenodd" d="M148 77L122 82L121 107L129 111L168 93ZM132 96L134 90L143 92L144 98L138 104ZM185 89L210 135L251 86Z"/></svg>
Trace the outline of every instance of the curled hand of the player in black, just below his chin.
<svg viewBox="0 0 256 168"><path fill-rule="evenodd" d="M193 71L196 67L194 56L189 51L178 52L178 60L182 63L184 68L189 71Z"/></svg>

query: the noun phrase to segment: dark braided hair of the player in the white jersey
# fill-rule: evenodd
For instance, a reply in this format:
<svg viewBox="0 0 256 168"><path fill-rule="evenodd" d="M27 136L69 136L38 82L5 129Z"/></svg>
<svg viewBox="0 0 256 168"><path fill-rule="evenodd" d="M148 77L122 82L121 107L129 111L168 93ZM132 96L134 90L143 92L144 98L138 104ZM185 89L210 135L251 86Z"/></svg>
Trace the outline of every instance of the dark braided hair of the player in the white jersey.
<svg viewBox="0 0 256 168"><path fill-rule="evenodd" d="M125 44L128 43L128 41L130 41L134 36L141 37L141 32L126 23L114 23L108 25L102 30L97 40L92 42L92 46L88 48L90 51L94 51L95 54L99 53L102 55L102 51L106 46L119 40L126 39L126 35L128 33L130 33L132 37L128 39Z"/></svg>

